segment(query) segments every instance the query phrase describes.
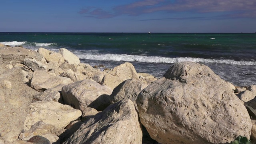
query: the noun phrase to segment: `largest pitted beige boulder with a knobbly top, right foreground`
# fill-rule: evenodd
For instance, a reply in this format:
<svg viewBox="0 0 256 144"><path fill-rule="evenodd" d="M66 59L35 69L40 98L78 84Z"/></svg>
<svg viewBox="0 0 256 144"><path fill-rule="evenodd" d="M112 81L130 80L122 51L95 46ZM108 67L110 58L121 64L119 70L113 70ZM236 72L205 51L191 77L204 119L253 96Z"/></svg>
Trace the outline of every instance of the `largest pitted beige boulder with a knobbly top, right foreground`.
<svg viewBox="0 0 256 144"><path fill-rule="evenodd" d="M140 92L140 121L161 144L220 144L250 138L243 103L212 70L194 62L174 64Z"/></svg>

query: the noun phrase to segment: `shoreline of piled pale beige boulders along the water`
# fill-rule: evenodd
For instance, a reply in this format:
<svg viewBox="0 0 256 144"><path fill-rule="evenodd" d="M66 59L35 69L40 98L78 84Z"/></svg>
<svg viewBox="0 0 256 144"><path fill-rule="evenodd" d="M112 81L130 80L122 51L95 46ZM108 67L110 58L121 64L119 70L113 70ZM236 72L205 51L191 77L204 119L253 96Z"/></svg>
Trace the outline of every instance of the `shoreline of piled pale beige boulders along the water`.
<svg viewBox="0 0 256 144"><path fill-rule="evenodd" d="M128 62L100 71L65 48L0 45L3 144L255 143L255 96L256 85L233 86L194 62L154 78Z"/></svg>

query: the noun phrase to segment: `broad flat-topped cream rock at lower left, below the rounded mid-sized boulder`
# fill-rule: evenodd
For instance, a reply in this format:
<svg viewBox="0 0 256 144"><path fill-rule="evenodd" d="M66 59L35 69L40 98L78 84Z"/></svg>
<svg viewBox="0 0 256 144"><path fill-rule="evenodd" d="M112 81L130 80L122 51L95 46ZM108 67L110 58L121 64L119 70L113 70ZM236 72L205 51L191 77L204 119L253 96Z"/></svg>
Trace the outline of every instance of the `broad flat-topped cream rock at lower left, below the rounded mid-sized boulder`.
<svg viewBox="0 0 256 144"><path fill-rule="evenodd" d="M24 130L29 130L33 124L42 121L52 124L56 128L65 128L70 122L82 115L80 110L75 110L71 106L60 104L59 102L34 102L30 104L30 112L24 122Z"/></svg>

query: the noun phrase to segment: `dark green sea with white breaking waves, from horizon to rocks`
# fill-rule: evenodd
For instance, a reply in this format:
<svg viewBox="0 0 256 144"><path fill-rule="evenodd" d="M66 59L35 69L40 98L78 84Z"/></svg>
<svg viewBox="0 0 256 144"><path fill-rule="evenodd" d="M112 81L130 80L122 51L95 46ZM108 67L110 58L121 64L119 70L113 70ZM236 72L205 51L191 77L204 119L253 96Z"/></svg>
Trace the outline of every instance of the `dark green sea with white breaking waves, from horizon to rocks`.
<svg viewBox="0 0 256 144"><path fill-rule="evenodd" d="M1 32L0 43L56 52L66 48L91 66L130 62L137 72L156 78L176 62L198 62L235 86L256 84L256 33Z"/></svg>

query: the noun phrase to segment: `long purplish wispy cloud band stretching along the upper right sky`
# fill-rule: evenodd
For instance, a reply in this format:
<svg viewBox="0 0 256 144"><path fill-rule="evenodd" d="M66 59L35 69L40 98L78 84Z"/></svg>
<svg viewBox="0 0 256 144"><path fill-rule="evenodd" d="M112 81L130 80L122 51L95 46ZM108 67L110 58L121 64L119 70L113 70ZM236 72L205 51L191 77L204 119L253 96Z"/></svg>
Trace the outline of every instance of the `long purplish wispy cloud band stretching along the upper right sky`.
<svg viewBox="0 0 256 144"><path fill-rule="evenodd" d="M230 12L227 18L256 18L255 0L140 0L138 2L115 6L111 11L89 7L78 13L95 18L115 16L138 16L153 12ZM224 15L222 15L224 16Z"/></svg>

